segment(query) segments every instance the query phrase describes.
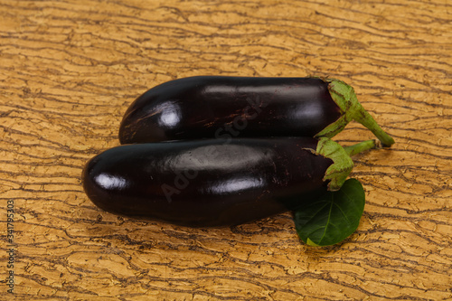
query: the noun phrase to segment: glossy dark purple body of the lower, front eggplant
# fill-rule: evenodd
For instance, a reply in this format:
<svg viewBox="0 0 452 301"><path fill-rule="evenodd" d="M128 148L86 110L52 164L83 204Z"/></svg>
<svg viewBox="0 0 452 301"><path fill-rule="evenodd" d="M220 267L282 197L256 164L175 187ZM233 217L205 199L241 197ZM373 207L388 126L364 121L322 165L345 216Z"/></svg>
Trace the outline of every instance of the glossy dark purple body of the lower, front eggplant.
<svg viewBox="0 0 452 301"><path fill-rule="evenodd" d="M285 212L325 190L333 161L315 138L236 138L117 146L82 174L89 199L120 215L208 227Z"/></svg>

